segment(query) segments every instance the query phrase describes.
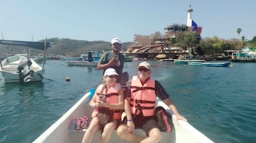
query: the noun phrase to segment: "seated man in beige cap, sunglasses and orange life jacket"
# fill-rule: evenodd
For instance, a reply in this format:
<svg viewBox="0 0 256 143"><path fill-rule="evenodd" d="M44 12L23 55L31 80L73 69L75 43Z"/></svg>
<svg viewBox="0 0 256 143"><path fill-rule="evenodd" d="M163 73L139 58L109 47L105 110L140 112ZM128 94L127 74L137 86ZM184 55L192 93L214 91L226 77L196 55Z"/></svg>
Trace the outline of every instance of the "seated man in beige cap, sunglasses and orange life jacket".
<svg viewBox="0 0 256 143"><path fill-rule="evenodd" d="M136 142L159 142L161 133L155 120L156 96L163 100L176 115L178 120L187 119L180 115L173 101L162 85L152 79L151 68L148 62L142 62L138 66L139 76L134 76L126 84L124 110L126 116L117 129L117 135L128 141ZM140 127L147 138L137 136L135 128Z"/></svg>

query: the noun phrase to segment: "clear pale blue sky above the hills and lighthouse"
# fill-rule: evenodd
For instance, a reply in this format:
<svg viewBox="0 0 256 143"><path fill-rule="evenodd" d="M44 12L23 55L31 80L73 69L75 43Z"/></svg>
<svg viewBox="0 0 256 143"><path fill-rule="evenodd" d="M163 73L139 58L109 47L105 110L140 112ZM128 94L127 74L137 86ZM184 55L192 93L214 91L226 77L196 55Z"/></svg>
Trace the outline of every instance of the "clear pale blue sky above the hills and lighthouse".
<svg viewBox="0 0 256 143"><path fill-rule="evenodd" d="M164 28L173 23L187 25L190 5L192 19L203 27L202 38L245 36L251 40L256 36L255 0L8 0L0 4L0 39L110 42L118 37L133 42L135 34L164 34Z"/></svg>

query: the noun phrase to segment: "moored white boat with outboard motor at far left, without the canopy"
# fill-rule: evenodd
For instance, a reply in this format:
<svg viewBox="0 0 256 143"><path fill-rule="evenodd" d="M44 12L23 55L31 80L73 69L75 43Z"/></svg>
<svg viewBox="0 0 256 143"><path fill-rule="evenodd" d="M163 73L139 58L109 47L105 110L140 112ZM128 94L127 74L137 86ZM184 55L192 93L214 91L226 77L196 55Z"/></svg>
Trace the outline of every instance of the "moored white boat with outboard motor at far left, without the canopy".
<svg viewBox="0 0 256 143"><path fill-rule="evenodd" d="M44 72L45 69L34 60L24 56L6 58L0 69L5 83L42 81Z"/></svg>

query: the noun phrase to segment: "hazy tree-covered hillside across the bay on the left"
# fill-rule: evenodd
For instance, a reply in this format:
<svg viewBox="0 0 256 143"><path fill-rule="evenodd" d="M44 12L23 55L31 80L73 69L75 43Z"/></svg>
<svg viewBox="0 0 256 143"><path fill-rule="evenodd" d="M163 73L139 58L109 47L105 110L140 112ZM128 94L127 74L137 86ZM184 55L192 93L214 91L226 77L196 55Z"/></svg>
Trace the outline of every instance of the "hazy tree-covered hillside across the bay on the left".
<svg viewBox="0 0 256 143"><path fill-rule="evenodd" d="M40 40L44 42L44 40ZM73 40L68 38L50 38L47 39L52 47L48 47L46 54L64 55L79 57L81 54L87 54L87 51L99 51L99 54L103 54L103 51L107 52L111 50L111 42L106 41L86 41L86 40ZM127 50L127 46L132 42L122 43L123 51ZM22 54L29 53L29 48L21 48L15 46L0 45L0 53L9 54ZM31 49L31 56L43 54L43 51Z"/></svg>

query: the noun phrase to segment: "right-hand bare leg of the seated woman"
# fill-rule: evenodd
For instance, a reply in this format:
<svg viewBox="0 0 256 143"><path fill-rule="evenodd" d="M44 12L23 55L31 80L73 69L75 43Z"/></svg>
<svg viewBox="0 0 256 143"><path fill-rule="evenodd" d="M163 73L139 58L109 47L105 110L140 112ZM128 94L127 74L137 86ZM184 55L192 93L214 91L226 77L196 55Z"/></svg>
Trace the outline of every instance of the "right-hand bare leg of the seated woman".
<svg viewBox="0 0 256 143"><path fill-rule="evenodd" d="M106 143L109 141L112 135L112 131L117 128L117 120L113 120L111 123L108 123L103 130L103 133L100 137L100 143Z"/></svg>

